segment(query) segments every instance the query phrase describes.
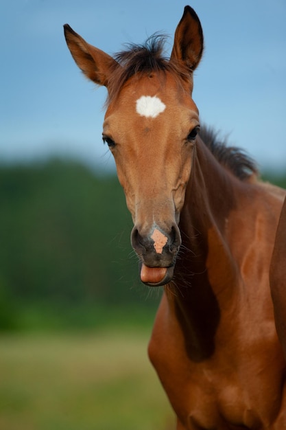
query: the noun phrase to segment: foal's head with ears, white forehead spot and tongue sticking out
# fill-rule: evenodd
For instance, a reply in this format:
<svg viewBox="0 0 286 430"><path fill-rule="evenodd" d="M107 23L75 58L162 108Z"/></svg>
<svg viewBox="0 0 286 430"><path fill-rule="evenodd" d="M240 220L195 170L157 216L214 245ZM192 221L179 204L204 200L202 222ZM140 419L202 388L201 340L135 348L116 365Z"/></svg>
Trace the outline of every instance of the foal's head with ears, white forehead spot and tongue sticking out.
<svg viewBox="0 0 286 430"><path fill-rule="evenodd" d="M184 8L168 60L158 35L112 58L69 25L64 32L80 69L108 90L102 136L132 214L131 243L141 261L141 280L167 284L181 245L178 224L200 127L191 98L193 70L203 50L198 16Z"/></svg>

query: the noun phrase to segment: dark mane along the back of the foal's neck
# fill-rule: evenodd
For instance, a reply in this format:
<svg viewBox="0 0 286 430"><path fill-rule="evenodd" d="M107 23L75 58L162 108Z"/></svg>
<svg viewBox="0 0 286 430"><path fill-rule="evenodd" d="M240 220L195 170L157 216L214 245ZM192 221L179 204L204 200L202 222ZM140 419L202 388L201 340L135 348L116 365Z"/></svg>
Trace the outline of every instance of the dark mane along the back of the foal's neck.
<svg viewBox="0 0 286 430"><path fill-rule="evenodd" d="M212 128L203 126L200 137L222 166L228 168L241 181L257 176L258 168L255 161L248 154L235 146L227 146L226 139L218 139L218 133Z"/></svg>

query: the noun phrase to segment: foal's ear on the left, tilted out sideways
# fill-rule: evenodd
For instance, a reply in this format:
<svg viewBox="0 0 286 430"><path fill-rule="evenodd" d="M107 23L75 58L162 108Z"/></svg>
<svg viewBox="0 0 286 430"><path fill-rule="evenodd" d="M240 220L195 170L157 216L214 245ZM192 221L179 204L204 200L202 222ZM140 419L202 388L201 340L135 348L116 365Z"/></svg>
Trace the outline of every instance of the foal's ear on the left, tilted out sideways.
<svg viewBox="0 0 286 430"><path fill-rule="evenodd" d="M98 85L107 87L110 74L118 65L117 61L100 49L86 43L68 24L64 25L64 36L75 63L87 78Z"/></svg>

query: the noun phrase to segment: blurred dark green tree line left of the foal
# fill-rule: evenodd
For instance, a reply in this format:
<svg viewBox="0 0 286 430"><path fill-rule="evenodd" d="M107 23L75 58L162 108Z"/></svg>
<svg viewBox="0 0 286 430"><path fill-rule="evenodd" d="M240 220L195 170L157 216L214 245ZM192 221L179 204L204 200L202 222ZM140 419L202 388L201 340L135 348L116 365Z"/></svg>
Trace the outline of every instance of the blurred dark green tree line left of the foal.
<svg viewBox="0 0 286 430"><path fill-rule="evenodd" d="M115 175L97 177L76 161L57 159L1 166L2 294L22 300L139 299L131 228Z"/></svg>

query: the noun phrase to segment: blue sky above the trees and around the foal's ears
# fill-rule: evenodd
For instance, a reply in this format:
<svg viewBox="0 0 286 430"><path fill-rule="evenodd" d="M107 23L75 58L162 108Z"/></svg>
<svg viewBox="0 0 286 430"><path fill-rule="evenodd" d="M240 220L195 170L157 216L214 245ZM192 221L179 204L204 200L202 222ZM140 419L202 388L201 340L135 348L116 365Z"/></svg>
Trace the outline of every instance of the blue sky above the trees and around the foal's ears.
<svg viewBox="0 0 286 430"><path fill-rule="evenodd" d="M1 0L0 159L113 161L102 144L106 89L83 78L64 41L69 23L113 54L160 31L169 51L186 0ZM205 38L193 99L202 122L262 168L286 170L286 1L193 0Z"/></svg>

